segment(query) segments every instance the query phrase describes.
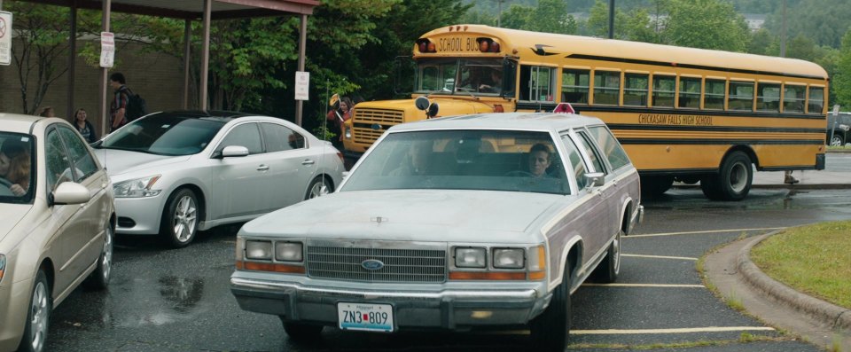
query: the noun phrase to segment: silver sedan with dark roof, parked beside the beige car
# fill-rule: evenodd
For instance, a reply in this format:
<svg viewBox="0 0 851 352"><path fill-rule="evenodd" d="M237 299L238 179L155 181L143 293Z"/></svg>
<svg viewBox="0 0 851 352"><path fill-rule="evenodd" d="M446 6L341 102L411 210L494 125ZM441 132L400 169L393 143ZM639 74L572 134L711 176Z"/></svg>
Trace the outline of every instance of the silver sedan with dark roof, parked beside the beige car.
<svg viewBox="0 0 851 352"><path fill-rule="evenodd" d="M344 171L330 142L243 113L152 113L94 146L113 179L116 232L159 233L175 247L333 191Z"/></svg>

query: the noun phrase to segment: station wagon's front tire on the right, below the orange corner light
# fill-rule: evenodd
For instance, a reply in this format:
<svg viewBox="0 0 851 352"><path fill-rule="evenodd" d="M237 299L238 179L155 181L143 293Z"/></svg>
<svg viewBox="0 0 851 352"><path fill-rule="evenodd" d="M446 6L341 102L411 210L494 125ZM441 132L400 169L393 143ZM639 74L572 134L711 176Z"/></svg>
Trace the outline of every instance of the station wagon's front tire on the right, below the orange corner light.
<svg viewBox="0 0 851 352"><path fill-rule="evenodd" d="M529 324L535 350L562 352L567 348L570 330L570 265L565 267L561 285L552 292L550 306Z"/></svg>

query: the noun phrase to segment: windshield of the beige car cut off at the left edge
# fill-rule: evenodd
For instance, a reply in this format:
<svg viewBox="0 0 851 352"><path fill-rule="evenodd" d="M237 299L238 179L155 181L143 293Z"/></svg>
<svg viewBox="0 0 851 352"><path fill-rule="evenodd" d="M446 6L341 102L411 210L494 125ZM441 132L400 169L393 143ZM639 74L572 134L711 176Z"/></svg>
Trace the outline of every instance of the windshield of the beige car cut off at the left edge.
<svg viewBox="0 0 851 352"><path fill-rule="evenodd" d="M0 203L29 203L35 193L35 138L0 132Z"/></svg>

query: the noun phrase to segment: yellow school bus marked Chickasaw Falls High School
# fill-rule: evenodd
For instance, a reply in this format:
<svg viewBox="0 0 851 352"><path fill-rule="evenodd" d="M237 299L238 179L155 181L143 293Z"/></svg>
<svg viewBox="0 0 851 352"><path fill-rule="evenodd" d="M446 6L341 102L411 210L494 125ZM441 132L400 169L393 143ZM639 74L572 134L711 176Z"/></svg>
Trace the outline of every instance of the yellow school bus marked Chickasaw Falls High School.
<svg viewBox="0 0 851 352"><path fill-rule="evenodd" d="M457 25L413 48L411 99L363 102L344 129L348 155L386 129L437 116L552 111L570 103L609 125L645 194L700 182L744 199L759 170L824 169L828 75L800 59Z"/></svg>

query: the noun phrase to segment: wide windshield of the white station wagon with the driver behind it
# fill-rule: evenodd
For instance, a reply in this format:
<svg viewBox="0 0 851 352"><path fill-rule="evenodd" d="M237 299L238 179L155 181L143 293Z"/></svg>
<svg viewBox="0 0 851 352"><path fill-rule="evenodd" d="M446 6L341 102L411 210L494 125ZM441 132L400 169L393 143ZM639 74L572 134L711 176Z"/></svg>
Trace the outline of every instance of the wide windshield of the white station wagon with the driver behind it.
<svg viewBox="0 0 851 352"><path fill-rule="evenodd" d="M340 189L485 190L568 194L547 132L433 130L389 134Z"/></svg>

